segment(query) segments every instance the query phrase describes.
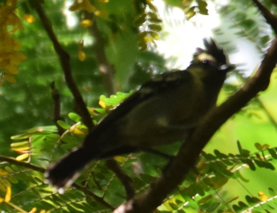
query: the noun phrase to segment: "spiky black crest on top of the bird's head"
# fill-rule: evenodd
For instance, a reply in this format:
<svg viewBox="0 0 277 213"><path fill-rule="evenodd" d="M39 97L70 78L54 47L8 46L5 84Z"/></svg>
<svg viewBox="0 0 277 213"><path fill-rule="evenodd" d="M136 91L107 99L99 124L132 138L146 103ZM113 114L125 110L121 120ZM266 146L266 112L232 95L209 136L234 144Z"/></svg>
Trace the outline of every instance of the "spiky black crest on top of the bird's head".
<svg viewBox="0 0 277 213"><path fill-rule="evenodd" d="M213 56L218 65L223 65L223 64L227 64L226 61L226 56L223 52L222 48L218 48L218 46L216 45L216 43L214 42L214 40L212 38L204 38L203 39L203 43L205 46L205 50L203 50L202 48L197 48L195 55L200 55L201 53L208 53L209 55Z"/></svg>

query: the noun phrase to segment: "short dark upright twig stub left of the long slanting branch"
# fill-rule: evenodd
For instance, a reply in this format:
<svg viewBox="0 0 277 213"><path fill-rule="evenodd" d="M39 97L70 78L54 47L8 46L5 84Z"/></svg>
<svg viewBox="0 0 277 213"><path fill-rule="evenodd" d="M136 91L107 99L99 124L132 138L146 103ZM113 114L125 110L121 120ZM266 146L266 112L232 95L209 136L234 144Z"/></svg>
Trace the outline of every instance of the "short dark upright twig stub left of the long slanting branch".
<svg viewBox="0 0 277 213"><path fill-rule="evenodd" d="M56 124L56 126L58 128L58 134L59 134L59 136L61 136L64 133L65 130L63 128L61 128L61 126L59 126L57 124L57 121L59 121L59 120L64 121L64 118L61 117L60 93L56 89L54 81L51 82L50 86L51 86L51 95L52 95L52 99L53 99L53 110L54 110L54 113L53 113L54 118L53 118L53 120L54 120L54 122L55 122L55 124Z"/></svg>

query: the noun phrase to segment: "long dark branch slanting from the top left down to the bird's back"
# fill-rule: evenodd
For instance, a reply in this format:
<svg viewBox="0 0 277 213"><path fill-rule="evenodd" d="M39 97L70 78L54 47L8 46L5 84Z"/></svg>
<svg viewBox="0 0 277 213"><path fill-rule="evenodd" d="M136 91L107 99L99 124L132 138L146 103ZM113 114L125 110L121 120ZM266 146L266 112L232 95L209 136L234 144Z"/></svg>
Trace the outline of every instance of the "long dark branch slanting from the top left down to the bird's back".
<svg viewBox="0 0 277 213"><path fill-rule="evenodd" d="M78 90L77 85L74 82L74 79L72 77L71 68L70 68L70 56L64 50L64 48L61 46L59 41L57 40L54 30L51 26L51 22L48 19L48 17L46 16L46 14L41 6L41 1L36 1L36 0L29 0L29 1L30 1L30 4L34 7L36 12L38 13L39 17L41 18L42 25L43 25L44 29L46 30L49 38L51 39L56 53L59 56L61 66L64 71L65 81L74 97L74 109L82 117L82 121L84 122L84 124L86 126L88 126L88 129L92 129L94 126L92 119L87 110L87 107L82 98L82 95L81 95L80 91Z"/></svg>

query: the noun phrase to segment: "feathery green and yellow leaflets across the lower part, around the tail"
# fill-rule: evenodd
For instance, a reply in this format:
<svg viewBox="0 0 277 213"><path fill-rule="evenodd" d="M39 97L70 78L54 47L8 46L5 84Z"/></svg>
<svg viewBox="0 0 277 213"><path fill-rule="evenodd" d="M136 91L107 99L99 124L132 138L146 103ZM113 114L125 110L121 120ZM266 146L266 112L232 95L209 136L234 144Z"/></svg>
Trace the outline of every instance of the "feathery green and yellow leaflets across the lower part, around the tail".
<svg viewBox="0 0 277 213"><path fill-rule="evenodd" d="M95 122L103 117L109 108L129 95L120 92L111 97L101 96L102 108L91 110L91 113L97 115ZM69 113L69 118L74 122L72 125L59 122L65 129L61 136L57 134L54 126L44 126L29 129L21 135L12 137L17 141L12 144L12 149L17 147L18 149L14 149L17 152L21 150L20 148L24 149L26 144L24 141L18 142L19 140L27 139L28 143L30 142L27 152L29 158L26 162L22 162L6 157L7 161L1 164L1 210L11 213L18 212L18 209L21 212L29 212L34 208L50 212L112 212L113 208L124 202L126 199L124 186L106 167L104 160L91 162L80 178L64 194L53 192L50 186L43 183L43 171L48 164L55 162L61 155L76 146L78 141L81 142L87 134L77 114ZM255 146L257 148L255 153L243 149L239 141L237 142L238 154L224 154L217 149L213 154L203 151L195 168L163 201L158 212L191 212L200 209L202 212L247 212L249 210L270 212L276 209L274 200L277 196L273 190L274 186L269 186L270 196L259 189L257 189L258 197L251 193L244 198L232 197L225 193L225 187L229 182L238 182L243 188L243 183L250 181L243 177L242 170L264 168L267 169L267 173L270 173L270 170L275 169L273 164L276 164L277 160L277 147L270 148L266 144L258 143ZM171 151L174 153L176 149ZM5 157L2 158L5 159ZM116 156L114 159L131 177L137 192L148 189L150 182L161 175L167 162L164 157L150 153ZM12 189L10 200L5 201L9 187Z"/></svg>

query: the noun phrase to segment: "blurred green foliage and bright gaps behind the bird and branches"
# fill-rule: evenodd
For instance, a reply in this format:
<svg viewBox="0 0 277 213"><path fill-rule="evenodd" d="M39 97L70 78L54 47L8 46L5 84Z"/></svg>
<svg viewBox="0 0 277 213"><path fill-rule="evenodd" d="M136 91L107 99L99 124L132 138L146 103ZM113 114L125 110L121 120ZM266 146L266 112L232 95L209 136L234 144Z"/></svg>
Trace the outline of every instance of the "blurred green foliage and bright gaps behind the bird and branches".
<svg viewBox="0 0 277 213"><path fill-rule="evenodd" d="M80 144L87 129L80 122L80 116L72 113L73 97L65 83L59 56L30 2L0 1L0 155L17 157L19 162L47 168L49 162L55 162ZM274 1L261 2L272 13L277 13ZM74 80L95 123L109 108L127 97L130 90L138 88L153 75L180 68L176 62L181 53L173 46L163 51L160 45L169 43L170 46L176 42L177 37L169 40L170 35L176 33L175 28L184 27L186 31L179 33L182 40L177 42L191 57L194 50L190 51L189 46L195 49L201 38L207 35L187 25L209 27L202 20L212 16L210 8L219 17L219 25L210 29L211 35L226 53L230 56L237 53L238 56L231 61L237 69L226 81L219 103L255 71L273 38L270 27L250 0L56 0L41 3L54 33L71 57ZM158 6L161 4L163 9ZM14 8L7 10L8 6ZM182 10L182 19L174 16L175 7ZM83 11L94 14L92 22L85 18ZM11 15L5 19L9 22L4 21L5 15ZM105 91L97 64L98 50L90 32L94 22L104 43L106 57L115 71L114 85L120 91L111 97ZM7 45L7 35L18 43ZM189 38L198 40L198 43L191 44ZM242 41L243 47L240 45ZM20 48L15 48L19 43ZM250 54L252 49L256 55ZM9 63L4 63L8 51L22 61L9 59ZM20 52L25 58L15 52ZM248 54L252 58L247 62L244 59ZM189 61L190 58L182 60ZM248 63L247 68L243 63ZM18 68L18 73L14 67ZM276 71L268 90L260 93L217 131L205 147L195 171L156 212L276 212L277 174L273 170L277 159L274 148L277 139ZM53 121L50 87L53 81L61 96L64 121L59 125L64 129L62 136L57 134ZM175 154L177 148L178 144L174 144L160 149ZM117 156L115 159L132 178L137 192L147 189L167 163L163 157L149 153ZM115 208L126 199L122 183L108 170L104 161L92 162L77 184L81 189L72 187L63 195L53 193L52 188L43 183L41 171L3 162L0 168L0 210L5 213L35 212L36 209L40 212L112 212L106 203ZM93 199L86 190L102 197L103 201Z"/></svg>

